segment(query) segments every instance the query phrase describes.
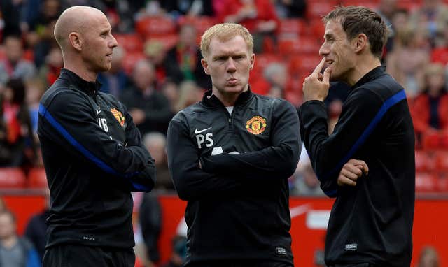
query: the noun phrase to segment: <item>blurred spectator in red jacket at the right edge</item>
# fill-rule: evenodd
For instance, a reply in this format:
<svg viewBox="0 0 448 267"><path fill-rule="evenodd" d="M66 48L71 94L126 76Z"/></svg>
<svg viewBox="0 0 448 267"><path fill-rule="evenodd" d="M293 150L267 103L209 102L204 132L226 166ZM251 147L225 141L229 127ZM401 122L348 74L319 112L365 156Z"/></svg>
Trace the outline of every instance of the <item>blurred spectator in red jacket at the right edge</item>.
<svg viewBox="0 0 448 267"><path fill-rule="evenodd" d="M429 64L425 71L423 92L412 104L412 121L418 140L424 133L448 130L448 92L441 64Z"/></svg>

